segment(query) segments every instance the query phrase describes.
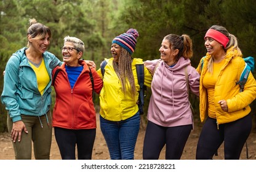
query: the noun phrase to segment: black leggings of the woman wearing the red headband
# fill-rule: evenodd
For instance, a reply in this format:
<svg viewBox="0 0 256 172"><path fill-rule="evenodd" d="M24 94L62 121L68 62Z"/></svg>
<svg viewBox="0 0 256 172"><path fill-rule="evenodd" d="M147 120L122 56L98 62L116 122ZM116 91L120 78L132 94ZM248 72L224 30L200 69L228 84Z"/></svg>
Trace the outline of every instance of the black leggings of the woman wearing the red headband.
<svg viewBox="0 0 256 172"><path fill-rule="evenodd" d="M216 125L216 119L208 117L202 127L196 149L196 159L212 159L224 141L225 160L239 160L242 147L250 135L252 117L246 115L234 122Z"/></svg>

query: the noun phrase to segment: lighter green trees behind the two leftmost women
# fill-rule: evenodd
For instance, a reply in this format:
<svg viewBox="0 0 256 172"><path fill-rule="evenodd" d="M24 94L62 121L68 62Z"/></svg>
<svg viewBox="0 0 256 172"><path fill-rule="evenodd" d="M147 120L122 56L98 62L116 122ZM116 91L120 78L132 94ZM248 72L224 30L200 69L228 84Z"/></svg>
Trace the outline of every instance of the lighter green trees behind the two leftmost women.
<svg viewBox="0 0 256 172"><path fill-rule="evenodd" d="M103 3L104 5L102 5ZM63 46L63 38L75 36L86 44L86 57L84 58L87 60L94 59L99 66L103 57L107 52L110 52L109 47L106 47L106 40L113 39L110 30L108 30L111 27L109 26L110 19L108 19L111 15L111 7L114 7L112 2L105 1L1 0L0 73L4 71L10 55L26 46L26 29L29 26L29 18L35 18L39 23L49 26L52 31L49 52L54 53L60 60L62 60L60 47ZM111 38L108 37L109 35ZM0 91L2 93L3 77L1 74L0 79ZM52 100L52 105L54 105L54 91L52 92ZM95 104L98 104L97 95L94 96L94 100ZM6 130L7 112L2 104L0 110L1 132Z"/></svg>

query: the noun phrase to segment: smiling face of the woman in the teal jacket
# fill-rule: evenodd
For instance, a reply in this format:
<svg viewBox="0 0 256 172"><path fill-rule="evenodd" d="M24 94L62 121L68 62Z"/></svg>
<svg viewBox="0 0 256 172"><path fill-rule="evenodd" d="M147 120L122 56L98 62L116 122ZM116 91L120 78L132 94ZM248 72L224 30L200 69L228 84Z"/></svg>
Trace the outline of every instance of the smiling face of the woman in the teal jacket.
<svg viewBox="0 0 256 172"><path fill-rule="evenodd" d="M48 33L46 33L44 37L38 39L38 37L33 38L31 35L28 35L28 41L30 41L31 49L38 53L44 53L50 44L50 36Z"/></svg>

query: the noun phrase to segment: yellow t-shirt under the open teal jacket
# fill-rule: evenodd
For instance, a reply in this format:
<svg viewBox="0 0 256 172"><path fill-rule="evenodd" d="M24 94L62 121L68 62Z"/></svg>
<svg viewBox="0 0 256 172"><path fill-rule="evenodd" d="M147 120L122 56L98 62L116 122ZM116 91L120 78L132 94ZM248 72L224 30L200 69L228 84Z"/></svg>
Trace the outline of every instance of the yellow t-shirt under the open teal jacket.
<svg viewBox="0 0 256 172"><path fill-rule="evenodd" d="M44 93L44 88L46 88L50 82L50 76L47 72L46 65L44 64L44 58L38 67L34 66L30 61L28 62L36 73L36 79L38 80L38 90L42 95Z"/></svg>

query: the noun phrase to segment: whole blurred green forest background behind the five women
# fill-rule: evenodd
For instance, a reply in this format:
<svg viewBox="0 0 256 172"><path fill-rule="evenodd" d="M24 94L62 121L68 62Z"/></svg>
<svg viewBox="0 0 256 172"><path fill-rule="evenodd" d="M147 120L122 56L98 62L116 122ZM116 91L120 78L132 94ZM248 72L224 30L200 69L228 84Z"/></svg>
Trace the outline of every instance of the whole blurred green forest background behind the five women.
<svg viewBox="0 0 256 172"><path fill-rule="evenodd" d="M159 47L167 34L188 34L193 40L191 65L196 68L206 54L204 35L212 25L222 25L238 37L243 56L256 57L256 5L254 0L1 0L0 1L0 93L7 60L25 47L29 18L52 31L49 52L60 60L65 36L75 36L86 44L84 59L94 60L97 69L104 58L110 58L114 37L129 28L137 29L134 58L159 58ZM255 72L253 73L255 77ZM53 104L55 92L52 92ZM150 89L145 98L148 108ZM199 119L198 98L190 95L194 118ZM98 96L94 95L98 110ZM256 102L251 105L255 130ZM0 133L7 131L7 111L0 104ZM145 115L144 115L145 117ZM198 121L198 120L195 120Z"/></svg>

